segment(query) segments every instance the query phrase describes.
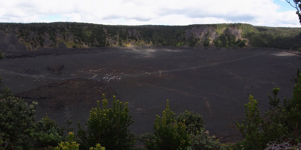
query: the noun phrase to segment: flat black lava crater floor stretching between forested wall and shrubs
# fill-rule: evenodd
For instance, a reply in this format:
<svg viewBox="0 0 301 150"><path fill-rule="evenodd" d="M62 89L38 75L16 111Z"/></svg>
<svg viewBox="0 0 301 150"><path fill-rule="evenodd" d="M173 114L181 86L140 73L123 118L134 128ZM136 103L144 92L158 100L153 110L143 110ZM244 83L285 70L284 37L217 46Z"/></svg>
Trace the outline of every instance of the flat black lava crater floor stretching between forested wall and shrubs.
<svg viewBox="0 0 301 150"><path fill-rule="evenodd" d="M235 122L244 119L249 95L268 110L268 93L280 87L291 97L301 56L268 48L189 49L178 47L86 48L5 52L2 85L26 102L37 101L37 119L48 114L63 124L66 111L74 125L85 124L89 111L105 94L129 102L140 135L153 132L155 115L169 99L176 114L203 115L210 135L237 141Z"/></svg>

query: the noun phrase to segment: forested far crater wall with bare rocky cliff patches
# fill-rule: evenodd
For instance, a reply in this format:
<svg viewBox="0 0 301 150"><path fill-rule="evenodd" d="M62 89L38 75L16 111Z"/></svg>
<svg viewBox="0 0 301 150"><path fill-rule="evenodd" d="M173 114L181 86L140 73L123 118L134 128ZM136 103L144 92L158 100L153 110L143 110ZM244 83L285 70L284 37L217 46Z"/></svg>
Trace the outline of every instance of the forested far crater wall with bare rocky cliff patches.
<svg viewBox="0 0 301 150"><path fill-rule="evenodd" d="M301 28L250 24L188 26L113 26L77 22L0 23L0 31L14 33L28 50L103 46L217 46L273 47L301 50Z"/></svg>

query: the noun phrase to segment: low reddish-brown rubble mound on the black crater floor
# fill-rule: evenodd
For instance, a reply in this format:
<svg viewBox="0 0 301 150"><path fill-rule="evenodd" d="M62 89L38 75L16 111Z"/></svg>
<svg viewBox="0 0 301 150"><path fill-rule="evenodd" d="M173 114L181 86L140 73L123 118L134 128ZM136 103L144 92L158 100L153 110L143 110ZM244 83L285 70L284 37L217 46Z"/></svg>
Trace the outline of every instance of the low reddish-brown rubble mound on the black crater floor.
<svg viewBox="0 0 301 150"><path fill-rule="evenodd" d="M17 96L26 100L37 101L42 105L51 103L52 109L60 110L70 105L92 104L96 100L102 99L102 94L112 97L115 93L114 89L102 82L78 78L52 82Z"/></svg>

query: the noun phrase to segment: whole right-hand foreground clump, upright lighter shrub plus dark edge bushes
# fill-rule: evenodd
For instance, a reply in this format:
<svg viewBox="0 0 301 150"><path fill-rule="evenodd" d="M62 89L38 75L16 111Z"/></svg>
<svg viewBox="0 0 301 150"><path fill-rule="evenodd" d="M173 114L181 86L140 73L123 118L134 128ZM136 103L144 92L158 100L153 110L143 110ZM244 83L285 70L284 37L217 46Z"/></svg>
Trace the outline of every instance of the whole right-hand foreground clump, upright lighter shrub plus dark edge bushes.
<svg viewBox="0 0 301 150"><path fill-rule="evenodd" d="M266 144L298 144L301 141L301 73L297 70L296 84L292 98L284 98L283 105L279 105L277 97L280 88L273 88L273 97L268 95L271 105L265 113L265 121L260 117L257 101L250 95L249 103L245 104L246 119L242 124L236 123L244 136L240 144L245 149L265 149ZM261 130L259 129L261 128Z"/></svg>

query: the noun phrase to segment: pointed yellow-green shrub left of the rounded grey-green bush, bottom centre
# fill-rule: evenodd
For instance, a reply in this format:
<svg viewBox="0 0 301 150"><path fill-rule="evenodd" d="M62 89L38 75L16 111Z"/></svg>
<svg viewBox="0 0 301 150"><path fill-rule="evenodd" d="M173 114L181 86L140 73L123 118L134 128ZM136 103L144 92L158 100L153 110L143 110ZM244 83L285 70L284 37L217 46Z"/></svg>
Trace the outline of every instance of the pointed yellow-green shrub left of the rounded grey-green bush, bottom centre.
<svg viewBox="0 0 301 150"><path fill-rule="evenodd" d="M168 100L162 117L156 115L154 135L158 149L161 150L185 149L190 145L186 126L183 122L176 121L175 113L169 109Z"/></svg>

